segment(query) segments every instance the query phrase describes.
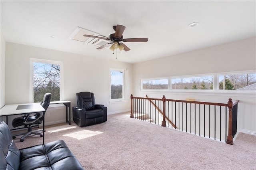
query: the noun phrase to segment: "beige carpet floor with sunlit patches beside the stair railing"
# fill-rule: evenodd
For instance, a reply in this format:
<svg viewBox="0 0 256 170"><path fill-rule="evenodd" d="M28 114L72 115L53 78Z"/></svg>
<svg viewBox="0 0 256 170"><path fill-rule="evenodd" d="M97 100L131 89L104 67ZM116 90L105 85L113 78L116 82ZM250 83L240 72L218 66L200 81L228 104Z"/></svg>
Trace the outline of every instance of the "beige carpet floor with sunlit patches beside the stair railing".
<svg viewBox="0 0 256 170"><path fill-rule="evenodd" d="M59 139L90 170L256 169L256 136L239 133L230 145L132 119L130 113L108 115L107 122L89 127L47 126L45 143ZM14 141L24 148L42 138Z"/></svg>

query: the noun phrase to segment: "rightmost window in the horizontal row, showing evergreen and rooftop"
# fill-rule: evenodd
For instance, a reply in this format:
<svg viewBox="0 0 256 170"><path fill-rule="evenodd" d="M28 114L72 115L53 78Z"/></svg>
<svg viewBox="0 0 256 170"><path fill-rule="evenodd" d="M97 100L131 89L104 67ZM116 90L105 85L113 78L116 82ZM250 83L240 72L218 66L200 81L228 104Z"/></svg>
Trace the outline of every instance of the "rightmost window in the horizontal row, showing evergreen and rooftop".
<svg viewBox="0 0 256 170"><path fill-rule="evenodd" d="M256 90L256 74L219 75L219 90Z"/></svg>

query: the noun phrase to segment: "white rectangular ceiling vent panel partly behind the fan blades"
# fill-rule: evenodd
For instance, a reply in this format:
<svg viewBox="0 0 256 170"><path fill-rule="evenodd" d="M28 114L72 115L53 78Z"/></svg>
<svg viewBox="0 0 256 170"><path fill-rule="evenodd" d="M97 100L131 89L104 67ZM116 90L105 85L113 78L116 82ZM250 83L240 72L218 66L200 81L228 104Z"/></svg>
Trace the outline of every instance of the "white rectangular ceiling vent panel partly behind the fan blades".
<svg viewBox="0 0 256 170"><path fill-rule="evenodd" d="M85 37L84 34L91 35L91 36L99 36L100 35L96 32L92 32L90 30L86 30L84 28L77 27L76 30L68 38L68 40L74 40L77 42L87 43L87 44L95 45L96 47L100 47L102 45L105 45L106 43L109 43L109 41L107 41L107 40Z"/></svg>

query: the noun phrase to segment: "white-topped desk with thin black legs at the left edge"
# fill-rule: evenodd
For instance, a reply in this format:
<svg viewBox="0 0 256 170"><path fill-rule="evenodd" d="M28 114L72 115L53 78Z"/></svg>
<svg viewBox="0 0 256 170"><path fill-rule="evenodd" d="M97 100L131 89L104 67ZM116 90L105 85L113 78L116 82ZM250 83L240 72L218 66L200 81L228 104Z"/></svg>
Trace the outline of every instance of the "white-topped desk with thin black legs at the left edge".
<svg viewBox="0 0 256 170"><path fill-rule="evenodd" d="M8 122L8 116L11 115L24 115L26 113L45 112L40 103L22 103L5 105L0 109L0 117L6 116L6 122ZM44 144L44 120L43 120L43 144Z"/></svg>

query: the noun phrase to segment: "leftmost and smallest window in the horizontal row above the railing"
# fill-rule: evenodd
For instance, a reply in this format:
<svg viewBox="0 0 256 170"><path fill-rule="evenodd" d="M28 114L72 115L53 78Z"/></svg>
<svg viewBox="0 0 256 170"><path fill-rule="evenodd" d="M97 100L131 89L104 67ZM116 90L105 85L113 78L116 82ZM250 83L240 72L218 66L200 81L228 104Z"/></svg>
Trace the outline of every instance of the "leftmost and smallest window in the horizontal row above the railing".
<svg viewBox="0 0 256 170"><path fill-rule="evenodd" d="M168 90L168 79L142 80L143 90Z"/></svg>

